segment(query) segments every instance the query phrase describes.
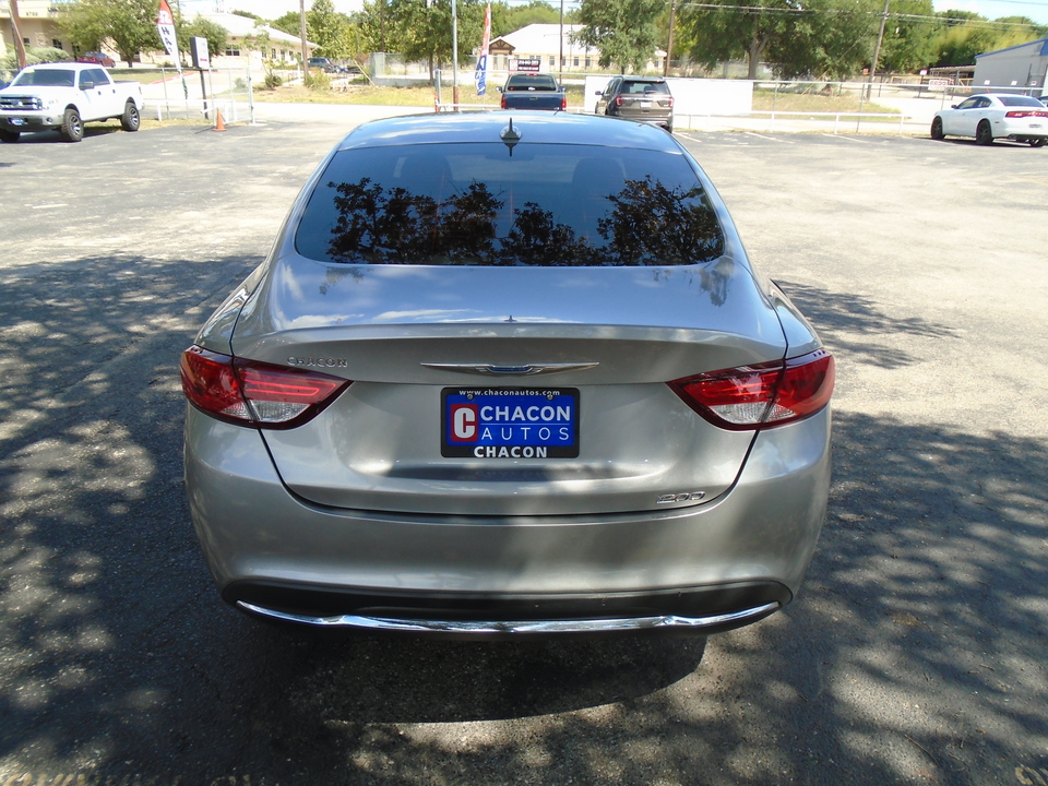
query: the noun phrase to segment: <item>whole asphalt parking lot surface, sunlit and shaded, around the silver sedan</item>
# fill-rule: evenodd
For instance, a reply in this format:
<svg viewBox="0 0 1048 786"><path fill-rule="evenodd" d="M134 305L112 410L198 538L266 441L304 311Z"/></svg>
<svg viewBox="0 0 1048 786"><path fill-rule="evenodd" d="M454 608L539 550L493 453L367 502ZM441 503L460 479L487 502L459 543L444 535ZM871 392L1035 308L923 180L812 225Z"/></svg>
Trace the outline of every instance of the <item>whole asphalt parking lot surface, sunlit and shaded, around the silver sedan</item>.
<svg viewBox="0 0 1048 786"><path fill-rule="evenodd" d="M345 131L0 145L0 784L1048 784L1048 152L681 134L838 362L784 612L701 639L294 635L181 486L178 353Z"/></svg>

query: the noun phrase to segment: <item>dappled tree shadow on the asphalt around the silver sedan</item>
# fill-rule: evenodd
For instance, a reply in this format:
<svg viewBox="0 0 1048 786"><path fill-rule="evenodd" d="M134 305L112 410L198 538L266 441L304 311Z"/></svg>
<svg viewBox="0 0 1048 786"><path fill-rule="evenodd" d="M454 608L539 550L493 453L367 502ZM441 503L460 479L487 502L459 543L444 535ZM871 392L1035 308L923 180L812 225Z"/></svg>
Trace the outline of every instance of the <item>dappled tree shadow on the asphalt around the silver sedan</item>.
<svg viewBox="0 0 1048 786"><path fill-rule="evenodd" d="M806 588L708 642L289 634L218 600L181 488L178 352L248 265L75 266L0 291L5 784L976 786L1046 766L1041 442L837 413ZM949 335L805 306L831 331Z"/></svg>

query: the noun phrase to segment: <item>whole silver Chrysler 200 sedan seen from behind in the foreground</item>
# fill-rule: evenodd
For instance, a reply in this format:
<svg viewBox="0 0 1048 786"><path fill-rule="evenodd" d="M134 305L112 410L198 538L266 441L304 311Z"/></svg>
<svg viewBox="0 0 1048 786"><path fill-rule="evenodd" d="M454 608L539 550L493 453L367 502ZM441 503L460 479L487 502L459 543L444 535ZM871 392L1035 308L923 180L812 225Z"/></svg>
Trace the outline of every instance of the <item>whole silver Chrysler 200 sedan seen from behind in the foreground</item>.
<svg viewBox="0 0 1048 786"><path fill-rule="evenodd" d="M204 556L271 620L726 630L822 526L833 358L645 124L356 128L181 376Z"/></svg>

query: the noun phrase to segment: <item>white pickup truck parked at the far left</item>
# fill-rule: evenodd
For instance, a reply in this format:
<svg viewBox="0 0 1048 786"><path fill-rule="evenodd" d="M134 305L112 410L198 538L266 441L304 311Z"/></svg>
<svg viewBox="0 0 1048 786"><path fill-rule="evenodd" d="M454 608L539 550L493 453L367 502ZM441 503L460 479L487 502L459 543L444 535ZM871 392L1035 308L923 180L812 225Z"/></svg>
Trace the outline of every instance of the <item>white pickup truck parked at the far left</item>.
<svg viewBox="0 0 1048 786"><path fill-rule="evenodd" d="M68 142L84 138L84 123L119 118L138 131L142 85L114 82L96 63L40 63L21 71L0 90L0 142L26 131L58 129Z"/></svg>

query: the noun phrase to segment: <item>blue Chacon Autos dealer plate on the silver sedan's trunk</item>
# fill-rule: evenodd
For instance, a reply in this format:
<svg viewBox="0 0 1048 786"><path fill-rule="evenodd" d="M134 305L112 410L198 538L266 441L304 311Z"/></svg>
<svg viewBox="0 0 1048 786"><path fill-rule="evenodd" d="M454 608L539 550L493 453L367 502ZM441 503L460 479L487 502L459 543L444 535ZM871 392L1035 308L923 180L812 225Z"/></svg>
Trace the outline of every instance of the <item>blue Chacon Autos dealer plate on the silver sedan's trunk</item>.
<svg viewBox="0 0 1048 786"><path fill-rule="evenodd" d="M575 388L444 388L440 454L452 458L575 458Z"/></svg>

